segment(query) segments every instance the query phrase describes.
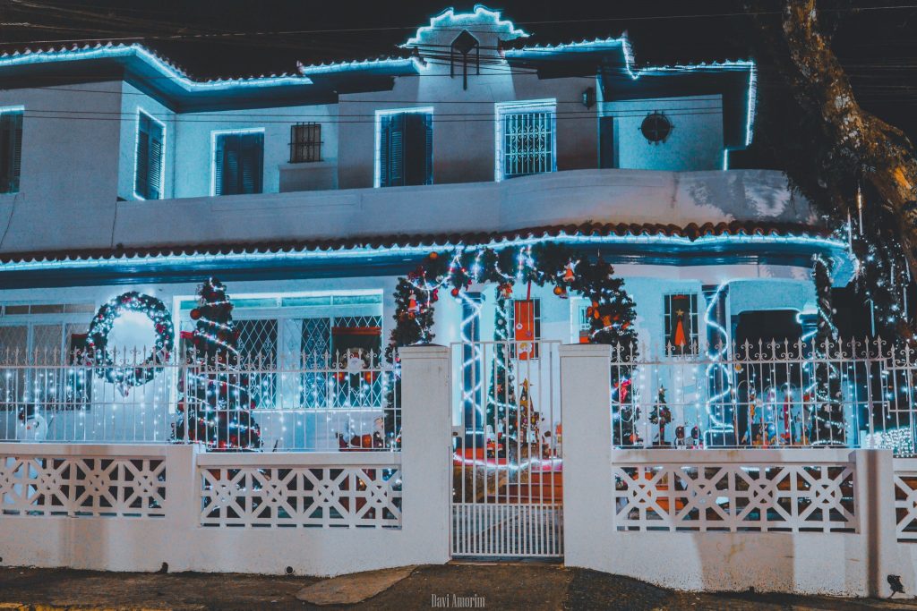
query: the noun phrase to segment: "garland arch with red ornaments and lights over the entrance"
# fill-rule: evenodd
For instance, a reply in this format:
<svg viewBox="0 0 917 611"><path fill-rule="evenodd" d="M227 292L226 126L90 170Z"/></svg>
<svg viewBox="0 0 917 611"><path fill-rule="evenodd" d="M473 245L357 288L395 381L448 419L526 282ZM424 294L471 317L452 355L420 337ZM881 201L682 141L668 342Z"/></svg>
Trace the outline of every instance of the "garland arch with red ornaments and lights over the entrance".
<svg viewBox="0 0 917 611"><path fill-rule="evenodd" d="M591 258L584 251L558 244L537 244L495 249L484 246L459 246L452 253L430 253L425 261L395 287L395 326L385 351L394 363L402 346L429 344L434 339L434 304L440 289L457 299L472 283L495 283L498 307L505 305L515 284L531 282L539 287L554 285L554 293L566 298L575 292L590 300L587 310L591 344L610 344L623 351L624 358L637 356L634 300L624 290L624 280L602 256ZM497 325L498 340L508 339L505 321ZM619 359L620 360L620 359ZM613 384L630 376L630 368L613 367ZM391 408L397 405L400 380L396 377L386 398ZM494 406L488 406L491 411ZM495 406L510 409L511 406ZM394 409L386 410L385 429L389 442L397 444L401 423Z"/></svg>

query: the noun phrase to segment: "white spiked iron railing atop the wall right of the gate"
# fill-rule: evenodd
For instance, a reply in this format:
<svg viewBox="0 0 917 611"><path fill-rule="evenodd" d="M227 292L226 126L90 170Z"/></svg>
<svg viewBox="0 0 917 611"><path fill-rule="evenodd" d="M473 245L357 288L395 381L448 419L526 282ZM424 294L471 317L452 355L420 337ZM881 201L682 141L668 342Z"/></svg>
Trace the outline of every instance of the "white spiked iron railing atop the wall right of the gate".
<svg viewBox="0 0 917 611"><path fill-rule="evenodd" d="M880 339L800 341L661 357L614 347L611 367L618 448L914 453L917 351L909 346Z"/></svg>

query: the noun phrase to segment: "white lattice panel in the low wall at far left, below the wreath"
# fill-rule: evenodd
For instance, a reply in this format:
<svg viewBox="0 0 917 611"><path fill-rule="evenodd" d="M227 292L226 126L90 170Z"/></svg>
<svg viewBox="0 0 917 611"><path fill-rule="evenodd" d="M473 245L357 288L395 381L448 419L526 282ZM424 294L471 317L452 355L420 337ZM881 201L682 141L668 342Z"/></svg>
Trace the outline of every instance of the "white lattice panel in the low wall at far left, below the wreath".
<svg viewBox="0 0 917 611"><path fill-rule="evenodd" d="M4 516L162 518L162 458L0 456Z"/></svg>

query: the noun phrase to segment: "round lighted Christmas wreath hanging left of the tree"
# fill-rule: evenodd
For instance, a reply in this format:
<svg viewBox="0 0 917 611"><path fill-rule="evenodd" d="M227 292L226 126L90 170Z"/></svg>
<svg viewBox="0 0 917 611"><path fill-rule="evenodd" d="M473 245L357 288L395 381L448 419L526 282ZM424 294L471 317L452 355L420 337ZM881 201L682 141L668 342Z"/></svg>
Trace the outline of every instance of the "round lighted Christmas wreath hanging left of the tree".
<svg viewBox="0 0 917 611"><path fill-rule="evenodd" d="M122 355L118 357L122 364L116 366L115 357L108 351L108 333L111 333L117 318L126 311L136 311L149 317L156 339L152 352L141 363L127 365L127 355ZM143 386L162 370L162 363L169 358L174 340L171 313L165 304L155 297L132 290L108 301L95 312L89 325L86 347L93 359L95 375L125 392L128 387Z"/></svg>

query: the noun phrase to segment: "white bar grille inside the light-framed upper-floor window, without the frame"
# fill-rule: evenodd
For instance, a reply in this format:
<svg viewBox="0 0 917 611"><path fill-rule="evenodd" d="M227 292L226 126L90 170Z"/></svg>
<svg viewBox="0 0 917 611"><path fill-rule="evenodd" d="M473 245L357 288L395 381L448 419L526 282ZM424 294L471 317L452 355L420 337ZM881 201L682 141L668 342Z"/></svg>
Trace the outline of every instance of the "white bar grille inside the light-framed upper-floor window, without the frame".
<svg viewBox="0 0 917 611"><path fill-rule="evenodd" d="M501 156L504 179L552 172L554 159L554 110L501 111Z"/></svg>

